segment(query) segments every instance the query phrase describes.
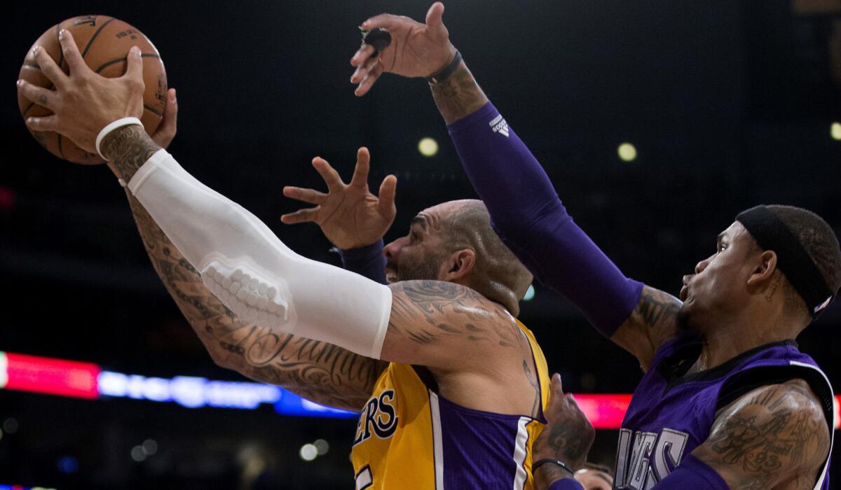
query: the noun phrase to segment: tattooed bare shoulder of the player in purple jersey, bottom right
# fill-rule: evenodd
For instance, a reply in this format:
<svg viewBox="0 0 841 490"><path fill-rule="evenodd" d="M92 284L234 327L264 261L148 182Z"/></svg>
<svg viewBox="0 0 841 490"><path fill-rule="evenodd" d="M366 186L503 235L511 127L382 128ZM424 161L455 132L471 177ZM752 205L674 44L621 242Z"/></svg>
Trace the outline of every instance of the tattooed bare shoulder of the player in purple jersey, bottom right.
<svg viewBox="0 0 841 490"><path fill-rule="evenodd" d="M812 488L829 453L821 404L806 382L754 390L722 409L692 452L731 488Z"/></svg>

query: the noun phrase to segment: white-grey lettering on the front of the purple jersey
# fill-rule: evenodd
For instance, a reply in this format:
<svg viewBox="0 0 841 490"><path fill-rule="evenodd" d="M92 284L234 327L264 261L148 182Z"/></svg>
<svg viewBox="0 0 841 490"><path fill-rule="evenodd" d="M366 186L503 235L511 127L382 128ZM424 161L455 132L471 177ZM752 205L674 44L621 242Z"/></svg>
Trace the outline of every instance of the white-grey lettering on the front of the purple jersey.
<svg viewBox="0 0 841 490"><path fill-rule="evenodd" d="M616 488L648 490L669 476L680 464L689 435L680 430L653 432L619 431L616 454Z"/></svg>

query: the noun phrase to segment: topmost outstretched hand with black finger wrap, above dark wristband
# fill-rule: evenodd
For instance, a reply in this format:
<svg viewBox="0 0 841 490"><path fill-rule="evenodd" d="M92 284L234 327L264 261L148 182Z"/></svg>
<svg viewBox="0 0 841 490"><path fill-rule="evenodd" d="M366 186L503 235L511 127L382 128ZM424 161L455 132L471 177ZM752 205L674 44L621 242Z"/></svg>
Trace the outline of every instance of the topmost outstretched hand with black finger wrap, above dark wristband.
<svg viewBox="0 0 841 490"><path fill-rule="evenodd" d="M358 84L354 93L362 97L383 72L401 76L431 76L442 71L455 57L450 34L444 27L444 4L433 3L426 12L426 24L411 18L381 13L362 23L362 29L387 29L391 44L374 55L372 45L362 45L351 58L357 70L351 83Z"/></svg>

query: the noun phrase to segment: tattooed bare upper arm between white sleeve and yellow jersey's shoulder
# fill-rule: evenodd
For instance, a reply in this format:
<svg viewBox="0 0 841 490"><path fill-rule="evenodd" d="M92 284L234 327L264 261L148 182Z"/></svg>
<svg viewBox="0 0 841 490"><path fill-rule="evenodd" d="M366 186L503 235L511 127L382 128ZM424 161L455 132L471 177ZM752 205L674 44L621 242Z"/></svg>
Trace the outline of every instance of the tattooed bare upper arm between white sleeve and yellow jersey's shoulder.
<svg viewBox="0 0 841 490"><path fill-rule="evenodd" d="M528 347L510 313L469 287L441 281L402 281L389 287L393 296L383 359L466 367L486 362L489 352Z"/></svg>

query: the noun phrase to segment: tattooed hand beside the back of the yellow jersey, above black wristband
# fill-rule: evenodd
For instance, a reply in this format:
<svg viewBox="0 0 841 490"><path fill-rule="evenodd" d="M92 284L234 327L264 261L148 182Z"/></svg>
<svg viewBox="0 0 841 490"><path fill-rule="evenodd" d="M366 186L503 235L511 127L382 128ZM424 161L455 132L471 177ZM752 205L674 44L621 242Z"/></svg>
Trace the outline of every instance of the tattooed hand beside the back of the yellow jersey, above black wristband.
<svg viewBox="0 0 841 490"><path fill-rule="evenodd" d="M552 377L549 404L543 413L547 424L534 441L534 461L560 460L573 471L587 461L587 453L595 439L595 429L581 412L572 394L563 393L561 376Z"/></svg>

